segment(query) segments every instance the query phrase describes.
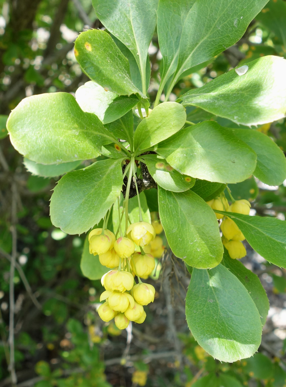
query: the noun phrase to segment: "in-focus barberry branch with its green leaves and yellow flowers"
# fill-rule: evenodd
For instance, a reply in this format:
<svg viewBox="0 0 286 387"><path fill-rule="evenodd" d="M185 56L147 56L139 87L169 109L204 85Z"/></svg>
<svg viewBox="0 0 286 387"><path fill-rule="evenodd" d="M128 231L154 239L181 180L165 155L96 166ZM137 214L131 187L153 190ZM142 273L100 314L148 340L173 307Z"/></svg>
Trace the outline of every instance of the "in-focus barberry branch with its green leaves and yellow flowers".
<svg viewBox="0 0 286 387"><path fill-rule="evenodd" d="M139 241L145 234L140 236L129 223L151 223L143 190L157 186L159 217L168 244L192 272L186 318L193 336L221 361L252 356L260 345L269 303L258 277L235 258L245 255L242 241L246 239L266 260L285 268L286 223L249 216L247 200L245 205L232 200L229 211L224 192L228 184L252 175L268 185L281 185L286 178L283 152L255 130L284 117L286 60L259 57L185 92L176 102L168 99L182 77L234 45L267 0L92 3L106 30L82 32L74 50L91 81L77 89L75 98L58 92L23 99L7 122L11 142L34 173L46 168L46 176L57 176L59 167L61 173L67 172L51 196L55 226L81 234L104 218L99 234L95 231L86 240L81 262L83 273L93 279L108 271L94 253L103 255L101 262L107 262L107 267L116 265L112 281L106 280L108 274L103 279L103 298L110 298L113 306L105 301L99 310L103 319L115 317L124 328L128 317L138 322L145 318L144 291L147 294L150 287L133 284L129 275L132 267L149 272L148 264L141 262L144 251ZM155 29L163 59L158 93L150 106L148 47ZM194 124L186 106L200 108L202 116L211 120ZM222 127L216 117L243 128ZM81 161L99 156L91 165L79 167ZM138 204L132 197L136 194ZM156 200L152 192L149 206L156 208ZM105 230L111 211L113 231L120 230L116 241ZM148 241L154 238L150 235ZM117 281L123 272L129 273L127 287L125 280ZM128 293L132 286L141 304L135 304ZM139 305L140 313L133 305Z"/></svg>

